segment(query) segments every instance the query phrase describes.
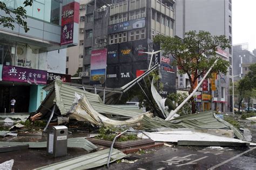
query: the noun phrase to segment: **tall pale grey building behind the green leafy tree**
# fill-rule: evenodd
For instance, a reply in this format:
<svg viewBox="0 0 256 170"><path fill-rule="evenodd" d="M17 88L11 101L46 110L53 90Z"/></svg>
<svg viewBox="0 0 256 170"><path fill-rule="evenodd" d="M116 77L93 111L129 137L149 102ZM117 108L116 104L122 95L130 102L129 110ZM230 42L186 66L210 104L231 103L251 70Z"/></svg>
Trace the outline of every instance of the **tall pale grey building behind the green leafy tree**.
<svg viewBox="0 0 256 170"><path fill-rule="evenodd" d="M212 35L225 35L232 45L232 1L176 1L176 36L184 38L185 32L191 30L208 31ZM201 99L199 107L203 110L219 110L229 111L231 109L231 97L228 96L229 84L232 78L232 48L226 50L218 50L218 55L223 59L230 61L230 69L227 75L220 74L216 80L217 90L212 91L210 88L204 91L212 96L210 98ZM180 75L178 75L179 77ZM181 76L185 77L185 76ZM186 83L183 83L186 84ZM185 88L185 86L184 86ZM204 94L203 94L204 96ZM212 101L212 105L211 105Z"/></svg>

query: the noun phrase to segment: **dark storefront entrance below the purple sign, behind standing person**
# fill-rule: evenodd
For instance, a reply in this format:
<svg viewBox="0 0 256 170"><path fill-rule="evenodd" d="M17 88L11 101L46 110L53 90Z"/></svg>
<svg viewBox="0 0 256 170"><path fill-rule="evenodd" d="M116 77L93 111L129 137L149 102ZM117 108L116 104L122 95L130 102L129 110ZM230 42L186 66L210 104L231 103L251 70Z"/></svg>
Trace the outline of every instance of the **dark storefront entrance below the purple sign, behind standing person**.
<svg viewBox="0 0 256 170"><path fill-rule="evenodd" d="M17 85L17 83L1 83L0 85L0 113L11 112L10 101L14 98L16 100L15 112L25 113L29 112L29 98L30 86Z"/></svg>

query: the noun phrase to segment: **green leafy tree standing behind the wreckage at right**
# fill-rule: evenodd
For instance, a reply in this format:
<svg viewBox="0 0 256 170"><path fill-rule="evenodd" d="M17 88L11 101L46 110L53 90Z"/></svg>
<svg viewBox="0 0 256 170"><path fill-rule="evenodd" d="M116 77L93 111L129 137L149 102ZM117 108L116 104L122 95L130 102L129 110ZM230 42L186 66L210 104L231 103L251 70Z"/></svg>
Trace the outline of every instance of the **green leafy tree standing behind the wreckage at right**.
<svg viewBox="0 0 256 170"><path fill-rule="evenodd" d="M189 31L185 33L185 38L168 37L158 35L154 38L154 43L160 43L164 55L171 55L174 65L179 67L179 74L187 74L191 88L189 94L193 92L194 85L199 77L203 77L207 70L213 65L211 73L227 73L229 62L216 56L217 47L222 50L230 47L229 40L224 36L212 36L207 31ZM206 57L207 56L207 57ZM196 113L196 103L194 97L190 98L192 113Z"/></svg>

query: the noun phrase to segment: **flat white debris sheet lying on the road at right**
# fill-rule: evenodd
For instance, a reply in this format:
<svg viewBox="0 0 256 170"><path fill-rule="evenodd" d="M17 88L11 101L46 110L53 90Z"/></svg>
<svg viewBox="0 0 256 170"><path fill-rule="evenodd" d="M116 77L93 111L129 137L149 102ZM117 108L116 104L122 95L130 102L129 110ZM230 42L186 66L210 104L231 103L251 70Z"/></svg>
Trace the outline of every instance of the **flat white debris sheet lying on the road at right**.
<svg viewBox="0 0 256 170"><path fill-rule="evenodd" d="M248 142L234 138L219 137L217 135L192 132L192 131L163 131L163 132L143 132L142 138L152 139L161 142L178 141L211 141L211 142L238 142L247 144Z"/></svg>

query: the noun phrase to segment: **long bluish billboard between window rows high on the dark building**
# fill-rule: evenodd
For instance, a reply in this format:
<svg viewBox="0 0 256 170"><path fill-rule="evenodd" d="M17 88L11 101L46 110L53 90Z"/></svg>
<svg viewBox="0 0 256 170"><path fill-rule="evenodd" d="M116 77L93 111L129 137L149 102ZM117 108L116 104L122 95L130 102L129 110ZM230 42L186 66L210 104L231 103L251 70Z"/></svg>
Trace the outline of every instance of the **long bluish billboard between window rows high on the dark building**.
<svg viewBox="0 0 256 170"><path fill-rule="evenodd" d="M118 24L109 25L107 32L117 33L122 31L129 31L134 29L140 29L145 27L145 18L134 19L132 21L126 21Z"/></svg>

